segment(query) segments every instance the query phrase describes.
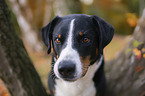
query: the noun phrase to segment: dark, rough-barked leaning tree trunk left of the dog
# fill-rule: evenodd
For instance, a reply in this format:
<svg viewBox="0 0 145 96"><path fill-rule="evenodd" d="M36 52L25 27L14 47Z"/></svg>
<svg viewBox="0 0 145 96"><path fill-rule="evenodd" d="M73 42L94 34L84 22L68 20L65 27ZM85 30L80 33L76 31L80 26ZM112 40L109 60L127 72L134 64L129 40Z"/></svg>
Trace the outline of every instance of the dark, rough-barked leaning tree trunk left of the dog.
<svg viewBox="0 0 145 96"><path fill-rule="evenodd" d="M48 96L15 32L5 0L0 0L0 78L11 96Z"/></svg>

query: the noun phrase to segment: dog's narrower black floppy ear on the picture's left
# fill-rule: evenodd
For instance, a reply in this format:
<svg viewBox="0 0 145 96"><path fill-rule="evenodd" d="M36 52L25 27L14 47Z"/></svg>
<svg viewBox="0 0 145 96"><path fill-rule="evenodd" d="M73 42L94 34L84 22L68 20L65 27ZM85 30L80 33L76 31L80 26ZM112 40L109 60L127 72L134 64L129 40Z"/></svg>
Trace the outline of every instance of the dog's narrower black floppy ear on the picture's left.
<svg viewBox="0 0 145 96"><path fill-rule="evenodd" d="M50 21L50 23L48 23L48 25L46 25L41 29L41 38L43 43L48 47L47 48L48 54L51 52L52 32L56 23L58 22L58 19L59 17L56 16L52 21Z"/></svg>

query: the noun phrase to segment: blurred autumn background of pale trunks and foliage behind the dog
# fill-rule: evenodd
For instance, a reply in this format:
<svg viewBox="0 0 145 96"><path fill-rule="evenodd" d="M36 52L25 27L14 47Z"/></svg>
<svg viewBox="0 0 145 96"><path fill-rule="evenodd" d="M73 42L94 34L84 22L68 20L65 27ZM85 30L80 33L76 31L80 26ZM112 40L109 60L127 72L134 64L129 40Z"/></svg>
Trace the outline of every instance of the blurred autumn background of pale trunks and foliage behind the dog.
<svg viewBox="0 0 145 96"><path fill-rule="evenodd" d="M105 48L105 60L118 56L131 38L145 7L145 0L6 0L12 21L47 88L51 54L41 41L40 30L55 16L98 15L112 24L115 36ZM0 80L0 96L10 96Z"/></svg>

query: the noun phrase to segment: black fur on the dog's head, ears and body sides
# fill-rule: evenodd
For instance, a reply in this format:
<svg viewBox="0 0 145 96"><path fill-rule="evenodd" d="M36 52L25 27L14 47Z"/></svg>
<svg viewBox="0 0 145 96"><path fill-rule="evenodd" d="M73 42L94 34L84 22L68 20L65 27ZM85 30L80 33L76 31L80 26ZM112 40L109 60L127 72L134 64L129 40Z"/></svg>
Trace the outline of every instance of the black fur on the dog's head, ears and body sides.
<svg viewBox="0 0 145 96"><path fill-rule="evenodd" d="M42 28L42 41L48 47L48 54L51 52L51 42L54 50L52 70L48 82L52 96L54 96L55 79L57 79L53 71L55 63L54 59L56 59L57 56L60 56L62 49L66 46L67 32L69 30L68 24L72 19L76 20L74 24L73 48L78 51L81 57L85 58L91 56L90 59L92 62L90 63L90 66L99 59L101 54L103 54L103 48L110 43L114 35L114 28L96 15L73 14L64 17L57 16L46 27ZM83 32L84 35L80 36L79 32ZM56 39L59 34L61 34L61 43L58 44ZM81 40L84 37L89 38L90 42L82 43ZM96 52L96 49L99 50L98 53ZM103 96L106 88L104 60L98 71L95 73L93 81L95 83L97 94Z"/></svg>

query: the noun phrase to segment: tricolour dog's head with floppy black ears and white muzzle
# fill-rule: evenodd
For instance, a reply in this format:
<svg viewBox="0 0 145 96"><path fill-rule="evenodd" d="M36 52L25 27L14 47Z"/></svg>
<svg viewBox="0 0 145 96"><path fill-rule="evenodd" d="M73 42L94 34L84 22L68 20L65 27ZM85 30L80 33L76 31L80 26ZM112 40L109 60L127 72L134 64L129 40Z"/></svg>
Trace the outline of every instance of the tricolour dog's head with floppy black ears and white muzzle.
<svg viewBox="0 0 145 96"><path fill-rule="evenodd" d="M103 54L114 28L98 16L83 14L55 17L42 28L44 44L55 54L53 70L58 78L74 81L85 76L88 67Z"/></svg>

